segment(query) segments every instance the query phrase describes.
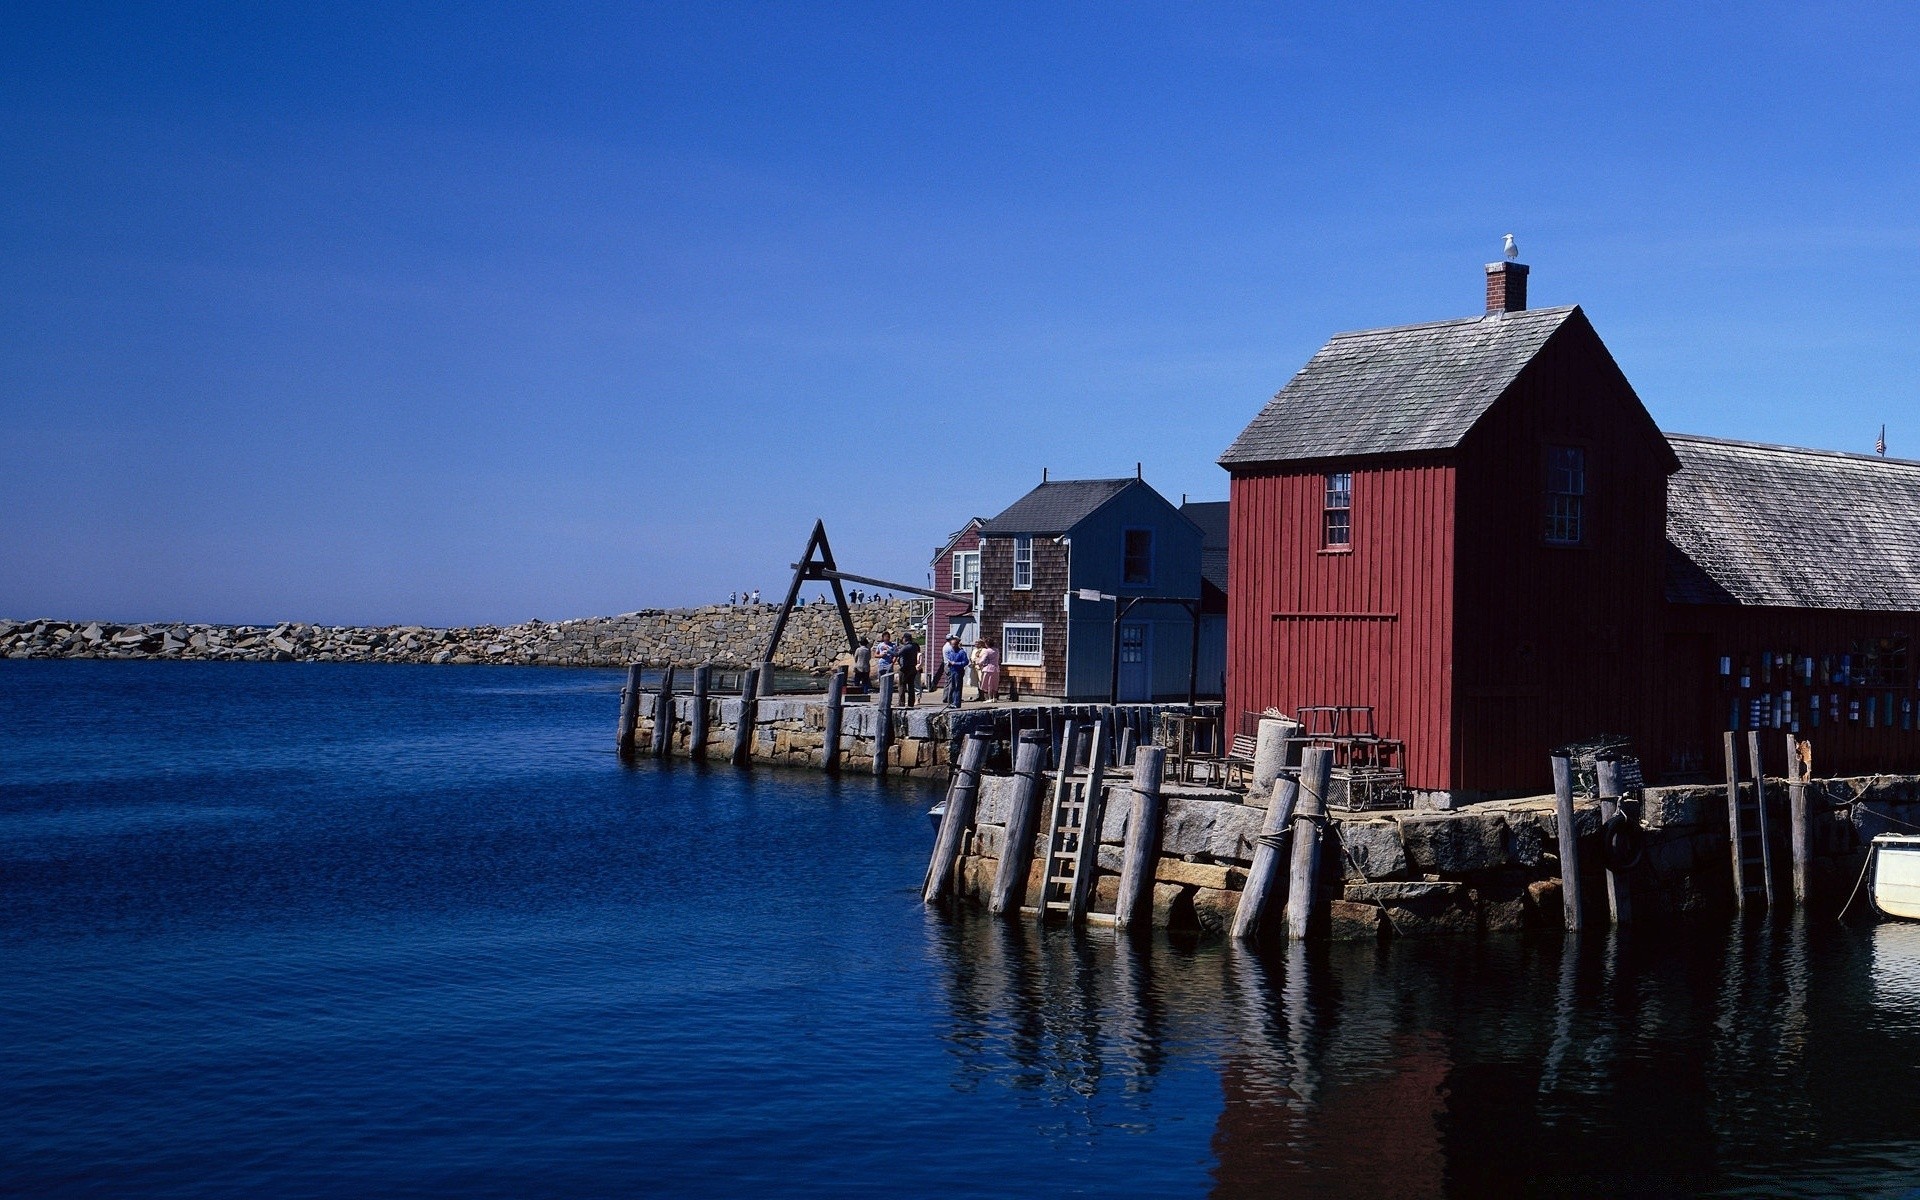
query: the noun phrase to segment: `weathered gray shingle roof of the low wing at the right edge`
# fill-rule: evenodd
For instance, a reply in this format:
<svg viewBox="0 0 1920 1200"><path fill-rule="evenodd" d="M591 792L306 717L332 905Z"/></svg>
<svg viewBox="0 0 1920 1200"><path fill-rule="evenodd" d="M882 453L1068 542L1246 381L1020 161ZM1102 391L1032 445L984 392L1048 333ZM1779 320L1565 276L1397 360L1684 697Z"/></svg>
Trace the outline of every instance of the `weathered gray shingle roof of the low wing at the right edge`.
<svg viewBox="0 0 1920 1200"><path fill-rule="evenodd" d="M1667 442L1667 599L1920 612L1920 463Z"/></svg>

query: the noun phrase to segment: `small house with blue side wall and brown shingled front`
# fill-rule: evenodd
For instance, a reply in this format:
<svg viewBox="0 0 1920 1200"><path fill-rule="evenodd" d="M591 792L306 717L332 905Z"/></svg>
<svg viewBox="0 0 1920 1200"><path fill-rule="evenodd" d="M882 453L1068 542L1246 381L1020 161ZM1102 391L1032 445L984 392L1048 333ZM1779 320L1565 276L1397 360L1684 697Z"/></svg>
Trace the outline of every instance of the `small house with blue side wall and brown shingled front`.
<svg viewBox="0 0 1920 1200"><path fill-rule="evenodd" d="M1185 699L1194 616L1108 597L1200 597L1200 528L1139 476L1043 480L979 526L979 628L1023 695ZM1119 670L1114 672L1116 632ZM1200 682L1206 693L1206 680Z"/></svg>

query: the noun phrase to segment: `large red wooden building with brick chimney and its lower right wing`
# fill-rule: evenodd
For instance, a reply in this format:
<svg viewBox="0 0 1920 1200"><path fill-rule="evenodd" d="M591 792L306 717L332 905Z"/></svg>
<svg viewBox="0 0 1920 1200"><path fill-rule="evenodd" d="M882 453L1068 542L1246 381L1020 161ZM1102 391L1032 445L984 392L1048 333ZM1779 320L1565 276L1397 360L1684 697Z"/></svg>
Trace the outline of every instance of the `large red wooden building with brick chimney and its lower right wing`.
<svg viewBox="0 0 1920 1200"><path fill-rule="evenodd" d="M1434 801L1540 791L1601 733L1655 778L1711 774L1730 724L1920 762L1916 468L1668 440L1578 307L1486 276L1480 317L1329 340L1221 455L1229 712L1371 705Z"/></svg>

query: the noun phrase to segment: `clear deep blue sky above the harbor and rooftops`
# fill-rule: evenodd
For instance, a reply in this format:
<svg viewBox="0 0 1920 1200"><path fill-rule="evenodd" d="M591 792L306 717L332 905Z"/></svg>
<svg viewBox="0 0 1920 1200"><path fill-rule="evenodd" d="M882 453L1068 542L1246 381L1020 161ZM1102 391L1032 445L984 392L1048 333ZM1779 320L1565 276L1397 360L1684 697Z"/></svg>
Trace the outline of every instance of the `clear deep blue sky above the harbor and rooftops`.
<svg viewBox="0 0 1920 1200"><path fill-rule="evenodd" d="M6 4L0 616L916 582L1507 230L1665 428L1920 457L1920 10L1317 8Z"/></svg>

